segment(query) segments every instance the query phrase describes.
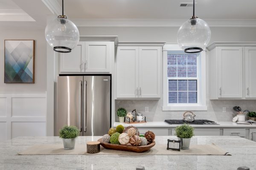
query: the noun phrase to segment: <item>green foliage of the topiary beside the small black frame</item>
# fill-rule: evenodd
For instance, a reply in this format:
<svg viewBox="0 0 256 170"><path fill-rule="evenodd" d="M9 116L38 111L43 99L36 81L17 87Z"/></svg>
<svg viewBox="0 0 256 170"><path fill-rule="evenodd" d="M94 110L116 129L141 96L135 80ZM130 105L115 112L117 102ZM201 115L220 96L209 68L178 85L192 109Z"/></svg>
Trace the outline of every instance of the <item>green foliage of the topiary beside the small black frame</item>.
<svg viewBox="0 0 256 170"><path fill-rule="evenodd" d="M175 135L179 138L191 138L194 136L194 127L183 124L175 128Z"/></svg>

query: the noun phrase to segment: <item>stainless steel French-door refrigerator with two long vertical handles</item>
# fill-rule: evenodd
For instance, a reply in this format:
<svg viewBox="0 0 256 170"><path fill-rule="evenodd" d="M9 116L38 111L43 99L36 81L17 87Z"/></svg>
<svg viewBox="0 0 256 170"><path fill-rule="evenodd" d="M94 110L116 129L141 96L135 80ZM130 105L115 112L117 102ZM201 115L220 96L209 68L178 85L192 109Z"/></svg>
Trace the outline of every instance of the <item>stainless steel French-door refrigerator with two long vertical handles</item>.
<svg viewBox="0 0 256 170"><path fill-rule="evenodd" d="M64 125L80 136L102 136L111 126L111 76L59 76L55 135Z"/></svg>

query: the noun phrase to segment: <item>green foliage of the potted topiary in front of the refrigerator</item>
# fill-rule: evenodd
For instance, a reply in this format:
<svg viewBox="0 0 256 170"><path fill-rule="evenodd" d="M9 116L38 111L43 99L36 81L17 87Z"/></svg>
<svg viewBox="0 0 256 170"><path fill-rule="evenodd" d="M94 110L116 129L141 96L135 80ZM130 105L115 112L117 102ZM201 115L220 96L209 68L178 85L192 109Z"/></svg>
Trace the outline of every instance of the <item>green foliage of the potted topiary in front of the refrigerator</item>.
<svg viewBox="0 0 256 170"><path fill-rule="evenodd" d="M64 139L72 139L79 136L79 130L76 126L63 126L62 129L59 131L60 138Z"/></svg>

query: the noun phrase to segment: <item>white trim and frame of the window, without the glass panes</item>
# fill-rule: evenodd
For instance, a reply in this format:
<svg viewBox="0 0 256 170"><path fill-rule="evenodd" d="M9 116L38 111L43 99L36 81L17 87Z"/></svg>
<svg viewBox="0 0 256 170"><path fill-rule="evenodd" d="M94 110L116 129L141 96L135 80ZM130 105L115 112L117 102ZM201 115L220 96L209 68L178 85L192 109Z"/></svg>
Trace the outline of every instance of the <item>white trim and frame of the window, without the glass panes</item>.
<svg viewBox="0 0 256 170"><path fill-rule="evenodd" d="M181 53L183 50L177 43L166 43L163 46L163 111L207 111L206 105L206 52L205 50L199 54L197 60L197 78L186 77L184 79L198 79L197 91L198 102L197 103L168 103L169 92L169 79L167 76L167 54L168 51ZM177 78L171 78L177 79ZM179 78L180 79L180 78ZM181 78L182 79L182 78Z"/></svg>

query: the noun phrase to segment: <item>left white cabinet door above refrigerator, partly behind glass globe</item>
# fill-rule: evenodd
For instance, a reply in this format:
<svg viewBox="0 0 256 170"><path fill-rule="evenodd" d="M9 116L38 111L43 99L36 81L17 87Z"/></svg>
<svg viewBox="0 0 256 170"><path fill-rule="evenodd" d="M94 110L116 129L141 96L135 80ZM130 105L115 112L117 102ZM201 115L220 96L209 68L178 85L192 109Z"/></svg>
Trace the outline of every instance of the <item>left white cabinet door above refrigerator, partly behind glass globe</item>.
<svg viewBox="0 0 256 170"><path fill-rule="evenodd" d="M60 72L84 71L84 42L79 42L70 53L60 54Z"/></svg>

